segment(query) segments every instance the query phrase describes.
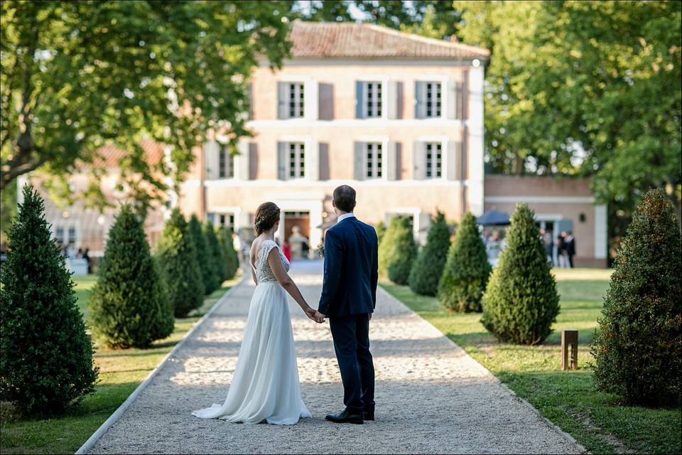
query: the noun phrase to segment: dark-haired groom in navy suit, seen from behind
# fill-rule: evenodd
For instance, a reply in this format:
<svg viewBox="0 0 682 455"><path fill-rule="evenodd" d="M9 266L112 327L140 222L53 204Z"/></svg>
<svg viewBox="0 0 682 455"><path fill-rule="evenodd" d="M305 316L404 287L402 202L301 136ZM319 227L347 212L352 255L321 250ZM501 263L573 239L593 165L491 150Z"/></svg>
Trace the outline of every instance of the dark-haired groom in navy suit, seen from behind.
<svg viewBox="0 0 682 455"><path fill-rule="evenodd" d="M336 423L374 420L374 364L369 353L369 320L377 305L379 278L377 232L355 215L355 190L334 190L337 224L325 234L325 277L318 311L328 316L343 382Z"/></svg>

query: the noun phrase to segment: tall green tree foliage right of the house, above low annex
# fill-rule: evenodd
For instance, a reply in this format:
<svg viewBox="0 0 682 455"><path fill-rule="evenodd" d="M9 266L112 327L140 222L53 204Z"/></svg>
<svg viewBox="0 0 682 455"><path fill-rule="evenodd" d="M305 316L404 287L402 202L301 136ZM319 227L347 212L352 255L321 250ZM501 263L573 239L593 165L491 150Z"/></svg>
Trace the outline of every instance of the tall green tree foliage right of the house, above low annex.
<svg viewBox="0 0 682 455"><path fill-rule="evenodd" d="M485 129L495 171L592 176L612 237L649 188L666 188L680 213L678 2L454 6L462 38L492 51Z"/></svg>

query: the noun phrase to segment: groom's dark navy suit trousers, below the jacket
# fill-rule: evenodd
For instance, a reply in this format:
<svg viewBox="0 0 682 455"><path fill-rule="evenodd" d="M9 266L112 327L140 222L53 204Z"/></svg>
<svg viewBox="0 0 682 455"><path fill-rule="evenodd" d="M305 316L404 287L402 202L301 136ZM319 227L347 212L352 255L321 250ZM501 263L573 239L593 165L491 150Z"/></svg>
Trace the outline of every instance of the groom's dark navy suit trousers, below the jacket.
<svg viewBox="0 0 682 455"><path fill-rule="evenodd" d="M329 326L343 382L343 404L352 412L374 411L368 314L331 317Z"/></svg>

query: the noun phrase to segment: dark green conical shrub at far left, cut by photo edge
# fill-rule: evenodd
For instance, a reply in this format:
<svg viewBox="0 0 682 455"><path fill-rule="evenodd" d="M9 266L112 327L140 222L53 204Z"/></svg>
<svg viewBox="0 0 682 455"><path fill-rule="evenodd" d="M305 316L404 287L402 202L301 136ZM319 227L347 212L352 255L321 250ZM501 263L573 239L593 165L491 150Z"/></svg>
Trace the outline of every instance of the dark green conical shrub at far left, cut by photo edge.
<svg viewBox="0 0 682 455"><path fill-rule="evenodd" d="M0 397L27 414L63 411L93 391L98 373L44 210L24 186L0 279Z"/></svg>

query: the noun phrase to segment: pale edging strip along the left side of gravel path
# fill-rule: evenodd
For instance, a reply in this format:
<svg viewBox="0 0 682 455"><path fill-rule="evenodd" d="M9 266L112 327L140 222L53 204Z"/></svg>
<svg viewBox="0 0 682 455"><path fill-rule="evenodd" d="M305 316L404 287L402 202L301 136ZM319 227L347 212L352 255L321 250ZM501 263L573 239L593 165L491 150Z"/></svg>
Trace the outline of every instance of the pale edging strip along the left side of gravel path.
<svg viewBox="0 0 682 455"><path fill-rule="evenodd" d="M151 381L154 378L156 378L156 375L158 374L159 370L161 370L161 368L163 368L163 366L166 365L168 360L170 360L173 357L173 354L175 354L175 352L179 350L183 346L183 344L185 344L185 341L187 341L187 339L190 338L194 331L197 328L199 328L199 326L201 326L201 324L204 323L204 321L206 321L206 319L208 319L211 316L211 314L213 314L213 312L218 308L218 306L220 306L220 304L222 304L222 302L227 299L229 294L232 294L234 289L237 289L237 287L239 287L244 281L246 281L246 279L247 274L244 274L242 276L242 279L239 279L239 282L234 284L233 287L227 289L227 291L225 291L225 293L222 294L220 299L218 299L215 302L215 304L211 306L211 308L206 312L206 314L204 314L204 316L201 316L201 319L199 319L199 321L195 322L192 328L190 328L190 331L188 331L188 333L185 333L185 336L183 337L182 340L180 340L180 343L176 344L173 347L173 349L171 349L171 352L166 354L166 357L164 357L163 360L161 360L161 363L156 365L156 368L151 370L151 373L149 373L147 378L144 381L142 381L141 384L138 385L135 390L133 390L133 392L126 398L124 402L121 403L117 410L115 410L114 413L110 415L109 418L105 420L104 423L100 425L99 428L87 439L87 441L85 441L85 443L82 446L80 446L80 449L78 449L75 452L75 455L87 454L87 452L90 451L90 449L92 449L94 444L97 444L97 441L99 441L99 439L102 436L104 436L104 433L106 433L107 430L111 428L112 425L116 423L118 419L121 418L124 412L126 412L130 405L132 405L133 402L136 400L138 395L140 395L140 393L144 389L146 389L146 387L151 383Z"/></svg>

